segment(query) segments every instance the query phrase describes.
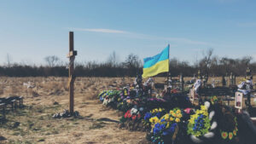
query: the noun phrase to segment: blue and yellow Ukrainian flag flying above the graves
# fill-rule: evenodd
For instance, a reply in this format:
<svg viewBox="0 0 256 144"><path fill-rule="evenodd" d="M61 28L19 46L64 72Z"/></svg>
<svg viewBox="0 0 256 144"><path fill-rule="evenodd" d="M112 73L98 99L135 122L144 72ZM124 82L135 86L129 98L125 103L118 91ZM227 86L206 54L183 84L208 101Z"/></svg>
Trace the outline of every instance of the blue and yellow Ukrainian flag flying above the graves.
<svg viewBox="0 0 256 144"><path fill-rule="evenodd" d="M160 72L169 72L169 49L168 45L160 54L143 59L143 78L155 76Z"/></svg>

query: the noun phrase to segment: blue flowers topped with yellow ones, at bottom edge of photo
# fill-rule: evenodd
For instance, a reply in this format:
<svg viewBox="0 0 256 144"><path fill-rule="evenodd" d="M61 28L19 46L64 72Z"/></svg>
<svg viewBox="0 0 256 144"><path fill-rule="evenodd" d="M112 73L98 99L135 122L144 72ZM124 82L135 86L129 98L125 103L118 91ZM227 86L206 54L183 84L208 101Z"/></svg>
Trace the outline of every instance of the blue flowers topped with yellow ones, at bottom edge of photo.
<svg viewBox="0 0 256 144"><path fill-rule="evenodd" d="M154 143L164 143L165 141L175 140L178 124L181 122L182 117L182 111L175 108L161 118L150 118L150 122L154 124L151 130L153 134L150 140Z"/></svg>

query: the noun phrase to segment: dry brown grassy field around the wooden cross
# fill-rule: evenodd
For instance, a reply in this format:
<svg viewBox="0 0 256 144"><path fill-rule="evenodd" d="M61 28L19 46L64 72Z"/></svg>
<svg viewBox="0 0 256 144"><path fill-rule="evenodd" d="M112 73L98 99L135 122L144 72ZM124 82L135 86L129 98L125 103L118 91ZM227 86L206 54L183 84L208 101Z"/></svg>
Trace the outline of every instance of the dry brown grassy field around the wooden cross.
<svg viewBox="0 0 256 144"><path fill-rule="evenodd" d="M133 79L125 78L125 83ZM164 79L155 80L163 83ZM27 82L35 87L27 88ZM0 125L0 136L6 140L0 137L0 143L147 143L145 132L120 130L116 121L121 113L96 99L102 90L116 89L121 84L121 78L76 78L74 109L81 118L55 119L55 112L68 109L67 78L2 77L0 97L22 95L26 107L8 112L7 121Z"/></svg>

